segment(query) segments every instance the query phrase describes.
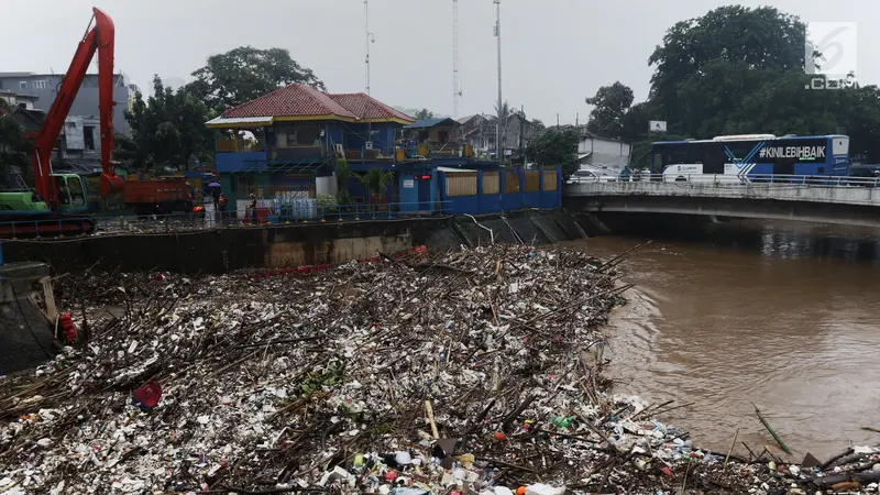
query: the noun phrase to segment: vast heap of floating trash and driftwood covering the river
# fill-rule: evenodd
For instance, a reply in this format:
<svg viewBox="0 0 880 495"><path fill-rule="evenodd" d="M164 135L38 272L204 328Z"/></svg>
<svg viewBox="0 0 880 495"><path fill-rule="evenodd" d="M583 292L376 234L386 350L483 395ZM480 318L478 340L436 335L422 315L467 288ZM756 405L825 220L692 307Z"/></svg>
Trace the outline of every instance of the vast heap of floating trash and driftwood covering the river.
<svg viewBox="0 0 880 495"><path fill-rule="evenodd" d="M728 458L614 395L624 256L420 253L61 278L73 344L0 381L0 494L876 491L873 449Z"/></svg>

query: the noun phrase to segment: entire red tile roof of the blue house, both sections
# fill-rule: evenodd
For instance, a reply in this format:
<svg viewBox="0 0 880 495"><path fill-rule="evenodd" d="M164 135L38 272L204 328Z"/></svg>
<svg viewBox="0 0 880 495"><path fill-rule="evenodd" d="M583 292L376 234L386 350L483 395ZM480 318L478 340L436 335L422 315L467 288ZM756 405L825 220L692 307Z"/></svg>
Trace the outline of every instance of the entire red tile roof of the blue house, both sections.
<svg viewBox="0 0 880 495"><path fill-rule="evenodd" d="M223 112L223 119L265 117L333 116L353 120L397 119L413 122L406 113L388 107L363 92L328 95L305 85L294 84Z"/></svg>

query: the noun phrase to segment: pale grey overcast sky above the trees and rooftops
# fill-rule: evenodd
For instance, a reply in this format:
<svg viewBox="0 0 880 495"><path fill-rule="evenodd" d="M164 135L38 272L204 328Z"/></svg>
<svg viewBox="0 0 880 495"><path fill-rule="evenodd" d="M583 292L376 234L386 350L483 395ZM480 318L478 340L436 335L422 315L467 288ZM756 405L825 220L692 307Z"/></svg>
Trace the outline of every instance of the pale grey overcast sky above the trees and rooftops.
<svg viewBox="0 0 880 495"><path fill-rule="evenodd" d="M0 0L0 4L10 0ZM502 0L504 99L547 124L583 122L584 98L615 80L647 97L648 57L673 23L716 0ZM761 2L744 1L757 7ZM868 0L778 0L803 21L879 19ZM363 91L362 0L28 0L4 22L0 72L66 70L91 15L117 26L117 68L142 88L153 74L190 80L207 56L241 45L288 48L332 92ZM460 0L460 114L492 112L497 100L495 8ZM871 58L880 31L859 25L858 78L880 79ZM372 95L394 106L452 113L452 0L370 0ZM95 69L95 67L92 67Z"/></svg>

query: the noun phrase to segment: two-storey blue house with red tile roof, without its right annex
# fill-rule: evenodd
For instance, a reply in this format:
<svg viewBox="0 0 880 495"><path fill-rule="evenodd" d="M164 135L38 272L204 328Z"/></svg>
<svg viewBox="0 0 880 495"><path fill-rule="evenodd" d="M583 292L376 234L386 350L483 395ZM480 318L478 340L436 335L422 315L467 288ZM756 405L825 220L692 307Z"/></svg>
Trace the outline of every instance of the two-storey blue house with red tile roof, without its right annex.
<svg viewBox="0 0 880 495"><path fill-rule="evenodd" d="M206 123L222 131L216 166L230 201L255 194L336 194L340 158L361 169L391 164L405 113L364 95L330 95L290 85L224 111Z"/></svg>

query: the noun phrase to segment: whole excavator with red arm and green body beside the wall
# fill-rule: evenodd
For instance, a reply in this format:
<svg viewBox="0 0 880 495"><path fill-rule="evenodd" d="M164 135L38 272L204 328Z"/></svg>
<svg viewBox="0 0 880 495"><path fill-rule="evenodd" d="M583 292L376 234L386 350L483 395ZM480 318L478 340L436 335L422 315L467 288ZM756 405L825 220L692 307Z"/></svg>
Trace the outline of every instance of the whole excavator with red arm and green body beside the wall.
<svg viewBox="0 0 880 495"><path fill-rule="evenodd" d="M86 184L77 174L55 174L52 150L64 121L74 105L95 53L98 53L98 111L101 121L101 176L99 193L110 197L122 193L124 180L112 162L113 142L113 21L100 9L94 14L77 46L70 67L62 81L33 143L31 167L34 188L0 191L0 238L91 233L95 220L85 216L88 205ZM79 215L77 215L79 213Z"/></svg>

